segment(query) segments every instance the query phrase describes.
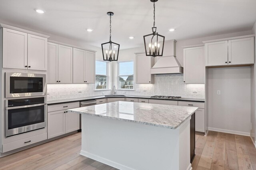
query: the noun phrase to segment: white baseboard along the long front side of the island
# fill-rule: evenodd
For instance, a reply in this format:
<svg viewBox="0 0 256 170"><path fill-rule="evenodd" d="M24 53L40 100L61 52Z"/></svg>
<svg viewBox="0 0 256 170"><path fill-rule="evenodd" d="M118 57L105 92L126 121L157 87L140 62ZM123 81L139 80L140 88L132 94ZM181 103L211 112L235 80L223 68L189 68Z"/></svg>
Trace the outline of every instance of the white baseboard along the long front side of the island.
<svg viewBox="0 0 256 170"><path fill-rule="evenodd" d="M122 164L118 164L117 162L113 162L113 161L111 161L111 160L102 158L102 157L100 157L100 156L97 156L97 155L95 155L95 154L91 154L91 153L86 152L86 151L83 151L83 150L81 150L80 155L86 156L86 157L91 158L91 159L93 159L93 160L97 160L98 162L101 162L101 163L103 163L103 164L112 166L112 167L117 168L117 169L120 169L120 170L135 170L135 169L130 168L130 167L128 167L128 166L125 166L125 165L122 165Z"/></svg>

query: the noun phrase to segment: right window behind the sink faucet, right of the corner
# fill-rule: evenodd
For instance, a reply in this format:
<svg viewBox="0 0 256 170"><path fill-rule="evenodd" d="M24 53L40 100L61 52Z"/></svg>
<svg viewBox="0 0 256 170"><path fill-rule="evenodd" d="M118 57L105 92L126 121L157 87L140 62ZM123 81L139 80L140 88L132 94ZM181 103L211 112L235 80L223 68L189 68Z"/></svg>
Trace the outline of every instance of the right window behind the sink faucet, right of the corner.
<svg viewBox="0 0 256 170"><path fill-rule="evenodd" d="M133 89L133 61L118 62L119 89Z"/></svg>

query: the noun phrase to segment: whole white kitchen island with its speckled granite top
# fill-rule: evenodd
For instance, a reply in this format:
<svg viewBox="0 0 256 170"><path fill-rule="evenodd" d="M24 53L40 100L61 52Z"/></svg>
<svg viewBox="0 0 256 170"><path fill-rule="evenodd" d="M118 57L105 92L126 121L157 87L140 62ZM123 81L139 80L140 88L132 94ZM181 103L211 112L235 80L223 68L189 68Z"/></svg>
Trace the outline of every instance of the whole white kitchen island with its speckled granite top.
<svg viewBox="0 0 256 170"><path fill-rule="evenodd" d="M197 109L118 101L68 112L82 114L83 156L120 170L190 170Z"/></svg>

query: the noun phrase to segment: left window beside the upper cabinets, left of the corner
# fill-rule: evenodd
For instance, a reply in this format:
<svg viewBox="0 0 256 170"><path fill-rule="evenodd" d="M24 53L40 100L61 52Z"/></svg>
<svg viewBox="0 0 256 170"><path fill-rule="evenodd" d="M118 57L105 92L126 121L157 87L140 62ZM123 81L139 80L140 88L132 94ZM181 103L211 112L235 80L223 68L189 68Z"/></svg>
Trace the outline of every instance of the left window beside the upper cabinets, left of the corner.
<svg viewBox="0 0 256 170"><path fill-rule="evenodd" d="M104 61L96 61L95 65L95 89L107 89L108 86L108 71L107 63Z"/></svg>

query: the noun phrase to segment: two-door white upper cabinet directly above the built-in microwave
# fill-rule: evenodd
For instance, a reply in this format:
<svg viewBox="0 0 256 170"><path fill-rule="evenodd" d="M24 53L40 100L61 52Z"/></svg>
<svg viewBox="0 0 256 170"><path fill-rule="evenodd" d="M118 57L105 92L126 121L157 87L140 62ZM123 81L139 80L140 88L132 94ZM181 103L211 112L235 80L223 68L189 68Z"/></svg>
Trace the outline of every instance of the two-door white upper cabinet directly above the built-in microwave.
<svg viewBox="0 0 256 170"><path fill-rule="evenodd" d="M3 28L3 68L46 71L47 38Z"/></svg>

